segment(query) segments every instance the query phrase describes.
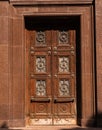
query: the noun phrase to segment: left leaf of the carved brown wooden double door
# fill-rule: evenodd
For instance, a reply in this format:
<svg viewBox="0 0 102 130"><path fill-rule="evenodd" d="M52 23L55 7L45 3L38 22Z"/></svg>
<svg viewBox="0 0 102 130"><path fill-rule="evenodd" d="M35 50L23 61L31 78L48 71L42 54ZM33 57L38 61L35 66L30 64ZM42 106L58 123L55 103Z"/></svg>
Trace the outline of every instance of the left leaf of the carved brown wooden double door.
<svg viewBox="0 0 102 130"><path fill-rule="evenodd" d="M30 32L30 125L52 123L51 32ZM46 120L45 120L46 119Z"/></svg>

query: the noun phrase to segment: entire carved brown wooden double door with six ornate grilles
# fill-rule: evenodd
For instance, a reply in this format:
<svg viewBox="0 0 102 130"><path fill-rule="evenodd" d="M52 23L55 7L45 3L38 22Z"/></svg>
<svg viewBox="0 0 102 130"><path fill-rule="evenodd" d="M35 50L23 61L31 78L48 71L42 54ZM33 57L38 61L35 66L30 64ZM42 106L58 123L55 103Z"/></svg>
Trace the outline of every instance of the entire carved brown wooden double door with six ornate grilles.
<svg viewBox="0 0 102 130"><path fill-rule="evenodd" d="M76 124L75 30L27 32L29 125Z"/></svg>

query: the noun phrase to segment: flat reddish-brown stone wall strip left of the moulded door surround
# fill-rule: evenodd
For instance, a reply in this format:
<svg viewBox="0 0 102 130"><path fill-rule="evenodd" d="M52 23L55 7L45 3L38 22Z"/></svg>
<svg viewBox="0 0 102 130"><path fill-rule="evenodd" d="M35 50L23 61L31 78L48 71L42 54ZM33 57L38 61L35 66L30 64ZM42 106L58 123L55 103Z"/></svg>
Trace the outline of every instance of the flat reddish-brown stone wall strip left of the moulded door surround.
<svg viewBox="0 0 102 130"><path fill-rule="evenodd" d="M8 120L9 95L8 2L0 2L0 121Z"/></svg>

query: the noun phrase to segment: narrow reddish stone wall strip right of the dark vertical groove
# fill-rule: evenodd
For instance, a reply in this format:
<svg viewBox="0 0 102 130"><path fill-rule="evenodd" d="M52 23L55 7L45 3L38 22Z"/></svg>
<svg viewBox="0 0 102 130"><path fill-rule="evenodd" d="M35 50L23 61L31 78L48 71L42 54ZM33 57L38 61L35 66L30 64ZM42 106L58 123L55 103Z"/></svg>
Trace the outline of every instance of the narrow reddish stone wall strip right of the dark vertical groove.
<svg viewBox="0 0 102 130"><path fill-rule="evenodd" d="M95 1L98 124L102 126L102 0Z"/></svg>

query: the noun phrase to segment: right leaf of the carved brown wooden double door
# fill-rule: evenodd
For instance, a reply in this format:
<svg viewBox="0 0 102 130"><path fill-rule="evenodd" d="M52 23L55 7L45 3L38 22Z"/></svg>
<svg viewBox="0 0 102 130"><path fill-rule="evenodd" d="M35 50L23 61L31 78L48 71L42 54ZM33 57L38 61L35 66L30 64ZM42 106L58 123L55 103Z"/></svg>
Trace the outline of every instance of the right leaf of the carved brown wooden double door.
<svg viewBox="0 0 102 130"><path fill-rule="evenodd" d="M54 30L52 33L54 124L75 124L75 31Z"/></svg>

